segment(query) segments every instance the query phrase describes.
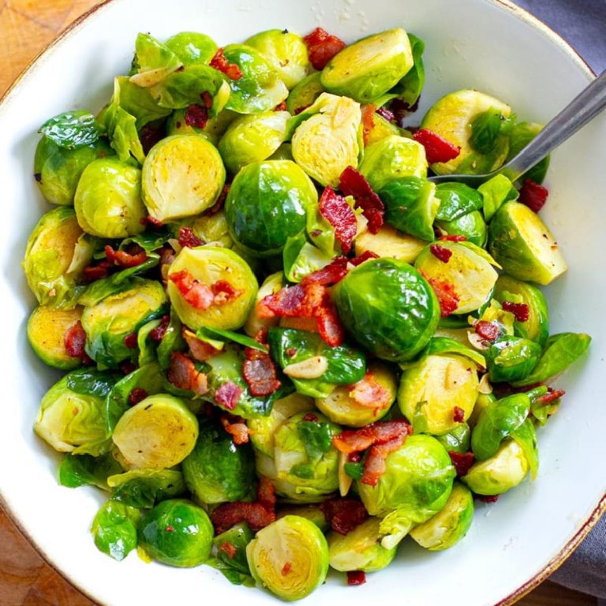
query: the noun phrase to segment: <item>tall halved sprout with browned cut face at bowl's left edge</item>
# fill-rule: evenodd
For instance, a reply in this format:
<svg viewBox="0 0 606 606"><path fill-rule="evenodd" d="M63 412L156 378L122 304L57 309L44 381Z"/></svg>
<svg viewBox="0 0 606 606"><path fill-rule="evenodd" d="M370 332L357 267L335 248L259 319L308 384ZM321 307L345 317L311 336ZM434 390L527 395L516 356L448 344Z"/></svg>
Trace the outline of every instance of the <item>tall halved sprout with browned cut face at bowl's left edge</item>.
<svg viewBox="0 0 606 606"><path fill-rule="evenodd" d="M39 304L58 307L75 295L76 278L70 273L82 229L72 207L53 208L42 216L27 241L22 261L25 278Z"/></svg>

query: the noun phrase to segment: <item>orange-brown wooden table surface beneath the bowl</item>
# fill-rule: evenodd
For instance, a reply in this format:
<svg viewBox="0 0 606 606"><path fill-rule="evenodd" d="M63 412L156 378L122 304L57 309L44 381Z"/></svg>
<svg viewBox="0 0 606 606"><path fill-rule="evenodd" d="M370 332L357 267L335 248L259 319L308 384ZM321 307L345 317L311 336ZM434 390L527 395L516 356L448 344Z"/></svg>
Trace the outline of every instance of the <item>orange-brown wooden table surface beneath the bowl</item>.
<svg viewBox="0 0 606 606"><path fill-rule="evenodd" d="M0 96L36 53L95 4L96 0L0 0ZM0 510L0 606L91 604L45 564ZM519 604L595 606L596 600L545 582Z"/></svg>

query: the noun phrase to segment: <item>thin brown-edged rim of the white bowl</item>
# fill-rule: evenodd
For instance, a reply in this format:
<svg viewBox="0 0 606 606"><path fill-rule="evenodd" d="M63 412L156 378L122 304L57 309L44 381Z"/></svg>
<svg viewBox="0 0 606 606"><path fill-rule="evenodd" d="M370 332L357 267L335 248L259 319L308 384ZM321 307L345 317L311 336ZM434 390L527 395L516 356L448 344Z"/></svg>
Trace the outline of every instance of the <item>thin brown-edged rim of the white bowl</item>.
<svg viewBox="0 0 606 606"><path fill-rule="evenodd" d="M95 4L93 7L89 8L85 13L79 16L77 19L72 21L67 25L58 35L52 39L42 50L35 55L35 57L28 62L25 68L19 73L19 75L15 78L15 80L10 84L10 86L5 90L3 95L0 97L0 115L2 115L4 110L4 105L13 95L18 92L20 88L20 84L26 78L30 77L30 72L32 68L35 67L38 62L41 62L44 59L44 56L55 47L55 45L61 44L67 38L69 38L79 27L87 21L88 18L95 15L96 12L102 10L109 4L113 4L115 2L125 1L125 0L102 0L98 4ZM570 58L576 67L579 68L579 71L584 73L587 76L588 80L593 80L597 77L596 72L594 72L593 68L588 64L588 62L584 59L581 53L574 48L574 46L565 40L558 32L553 30L549 25L547 25L544 21L539 19L537 16L530 13L525 8L522 8L515 4L511 0L484 0L488 4L492 4L497 7L504 8L511 15L518 18L520 21L524 21L527 25L532 27L537 32L541 33L545 38L548 39L552 44L559 47L565 55ZM24 536L26 541L34 548L36 553L45 561L45 563L52 568L61 578L67 581L72 587L75 587L76 590L80 591L86 598L88 598L93 604L101 604L98 602L89 590L82 586L78 579L72 577L72 575L67 570L62 570L56 565L50 556L45 553L44 549L40 547L33 536L29 533L25 525L21 522L16 511L13 511L10 505L8 504L8 500L2 494L2 487L0 486L0 507L7 514L8 519L15 525L19 533ZM550 561L545 564L541 570L538 570L533 576L531 576L528 581L524 584L520 585L516 590L510 593L501 601L494 604L494 606L511 606L515 602L518 602L520 599L524 598L528 593L534 590L538 585L540 585L543 581L545 581L552 573L554 573L570 556L573 551L581 544L583 539L590 533L591 529L598 523L599 519L603 514L606 514L606 494L602 497L602 499L598 502L596 507L591 511L591 513L587 516L581 527L578 531L576 531L573 536L568 539L568 542L562 547L558 553L554 554L554 556L550 559Z"/></svg>

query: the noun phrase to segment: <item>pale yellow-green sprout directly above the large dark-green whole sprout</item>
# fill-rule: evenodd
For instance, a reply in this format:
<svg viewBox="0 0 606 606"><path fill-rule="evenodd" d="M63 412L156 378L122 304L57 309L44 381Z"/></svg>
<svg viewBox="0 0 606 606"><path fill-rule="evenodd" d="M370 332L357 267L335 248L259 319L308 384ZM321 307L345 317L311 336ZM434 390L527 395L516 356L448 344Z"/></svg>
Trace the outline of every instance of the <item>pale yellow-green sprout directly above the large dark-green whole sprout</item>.
<svg viewBox="0 0 606 606"><path fill-rule="evenodd" d="M236 174L271 156L284 142L288 119L288 112L262 112L231 122L218 145L227 170Z"/></svg>

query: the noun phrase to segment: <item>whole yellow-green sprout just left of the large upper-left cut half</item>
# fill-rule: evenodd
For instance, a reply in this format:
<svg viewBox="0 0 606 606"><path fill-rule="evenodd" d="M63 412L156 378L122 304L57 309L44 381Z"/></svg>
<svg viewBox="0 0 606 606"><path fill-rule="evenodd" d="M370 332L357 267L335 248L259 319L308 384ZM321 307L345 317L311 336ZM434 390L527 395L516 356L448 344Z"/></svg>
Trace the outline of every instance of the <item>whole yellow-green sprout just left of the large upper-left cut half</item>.
<svg viewBox="0 0 606 606"><path fill-rule="evenodd" d="M86 233L99 238L128 238L145 230L141 170L116 158L88 164L78 182L74 207Z"/></svg>

